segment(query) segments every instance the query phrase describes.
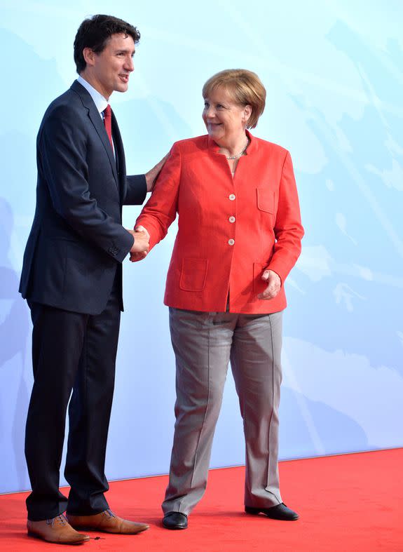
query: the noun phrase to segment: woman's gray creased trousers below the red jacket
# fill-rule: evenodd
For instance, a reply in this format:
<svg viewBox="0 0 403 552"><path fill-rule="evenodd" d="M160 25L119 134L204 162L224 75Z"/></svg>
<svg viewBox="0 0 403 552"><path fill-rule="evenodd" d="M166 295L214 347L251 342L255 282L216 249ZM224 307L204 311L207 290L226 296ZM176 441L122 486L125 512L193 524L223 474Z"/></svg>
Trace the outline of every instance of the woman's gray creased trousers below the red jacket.
<svg viewBox="0 0 403 552"><path fill-rule="evenodd" d="M280 504L282 312L231 314L170 308L170 332L177 400L164 513L189 514L203 497L230 360L245 434L245 505Z"/></svg>

